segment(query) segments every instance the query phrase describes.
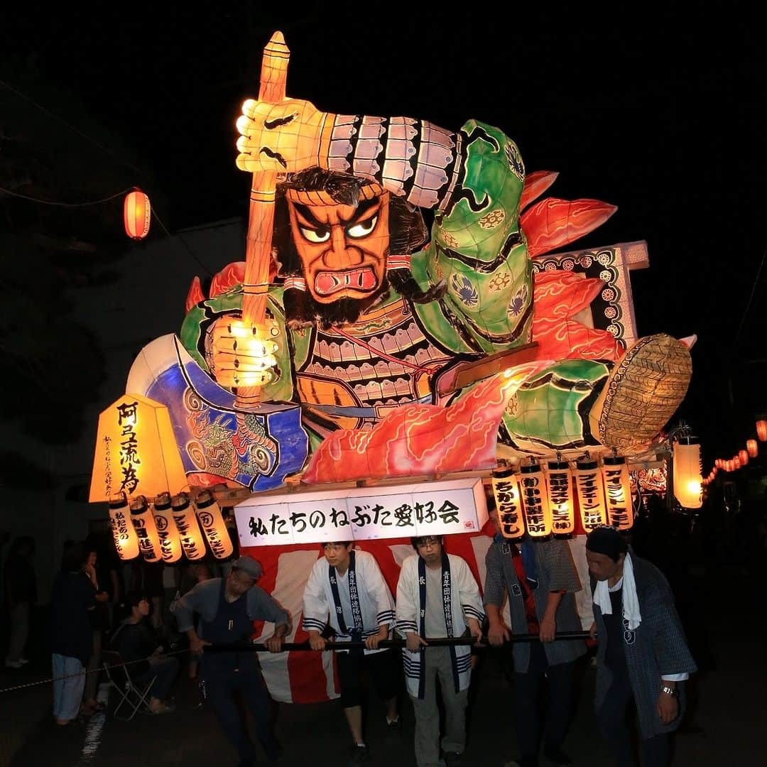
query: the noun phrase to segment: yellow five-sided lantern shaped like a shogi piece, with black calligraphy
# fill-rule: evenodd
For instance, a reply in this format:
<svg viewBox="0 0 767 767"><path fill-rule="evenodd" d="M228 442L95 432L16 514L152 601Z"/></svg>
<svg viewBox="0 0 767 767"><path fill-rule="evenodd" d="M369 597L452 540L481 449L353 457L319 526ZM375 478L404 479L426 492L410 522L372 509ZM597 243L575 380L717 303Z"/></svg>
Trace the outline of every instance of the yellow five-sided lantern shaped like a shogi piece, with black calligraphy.
<svg viewBox="0 0 767 767"><path fill-rule="evenodd" d="M140 394L124 394L100 414L91 503L120 492L152 498L186 486L167 407Z"/></svg>

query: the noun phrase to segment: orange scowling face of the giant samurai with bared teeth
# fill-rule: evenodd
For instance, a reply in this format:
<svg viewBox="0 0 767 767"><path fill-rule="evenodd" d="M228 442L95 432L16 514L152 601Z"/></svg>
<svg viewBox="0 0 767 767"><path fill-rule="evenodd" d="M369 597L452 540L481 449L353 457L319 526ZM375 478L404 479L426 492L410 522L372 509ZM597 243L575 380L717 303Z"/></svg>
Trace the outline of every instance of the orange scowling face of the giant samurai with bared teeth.
<svg viewBox="0 0 767 767"><path fill-rule="evenodd" d="M370 298L380 290L389 252L388 192L360 199L357 206L315 205L288 196L288 211L293 242L315 301Z"/></svg>

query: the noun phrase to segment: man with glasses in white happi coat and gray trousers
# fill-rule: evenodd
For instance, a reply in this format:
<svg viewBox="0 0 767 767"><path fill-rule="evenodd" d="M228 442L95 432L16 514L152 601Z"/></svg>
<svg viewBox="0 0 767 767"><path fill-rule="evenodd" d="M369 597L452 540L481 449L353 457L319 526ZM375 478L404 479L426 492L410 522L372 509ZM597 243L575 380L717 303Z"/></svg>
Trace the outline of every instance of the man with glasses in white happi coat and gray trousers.
<svg viewBox="0 0 767 767"><path fill-rule="evenodd" d="M441 535L413 538L413 548L417 554L403 561L397 584L397 630L406 640L403 663L416 712L416 761L418 767L457 765L466 744L471 647L430 647L428 638L462 637L468 631L479 641L482 597L466 561L443 551ZM441 757L437 677L445 708Z"/></svg>

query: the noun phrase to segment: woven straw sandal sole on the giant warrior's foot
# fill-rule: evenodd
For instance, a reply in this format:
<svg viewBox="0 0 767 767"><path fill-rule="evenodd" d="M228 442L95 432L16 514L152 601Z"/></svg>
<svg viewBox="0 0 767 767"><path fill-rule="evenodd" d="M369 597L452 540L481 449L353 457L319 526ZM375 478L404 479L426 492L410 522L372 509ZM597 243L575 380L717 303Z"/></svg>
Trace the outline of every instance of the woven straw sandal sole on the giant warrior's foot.
<svg viewBox="0 0 767 767"><path fill-rule="evenodd" d="M613 368L591 410L591 433L608 447L646 446L682 403L693 363L682 341L641 338Z"/></svg>

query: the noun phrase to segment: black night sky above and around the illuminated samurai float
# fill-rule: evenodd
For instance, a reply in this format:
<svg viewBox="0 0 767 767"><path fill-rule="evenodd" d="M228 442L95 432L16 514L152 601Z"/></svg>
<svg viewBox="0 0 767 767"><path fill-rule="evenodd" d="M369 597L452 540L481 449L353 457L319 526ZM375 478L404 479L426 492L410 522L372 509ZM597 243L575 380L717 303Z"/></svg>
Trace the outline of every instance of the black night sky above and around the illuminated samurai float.
<svg viewBox="0 0 767 767"><path fill-rule="evenodd" d="M500 3L262 5L7 12L2 80L103 146L82 173L101 167L114 186L105 192L141 186L172 232L247 216L235 119L258 94L275 29L291 48L288 94L320 109L500 127L528 173L560 173L551 195L618 206L573 249L647 240L650 268L632 281L638 330L700 339L672 423L702 437L705 468L753 436L753 416L767 411L765 363L753 361L767 357L765 64L745 3L608 15L573 4L522 15Z"/></svg>

